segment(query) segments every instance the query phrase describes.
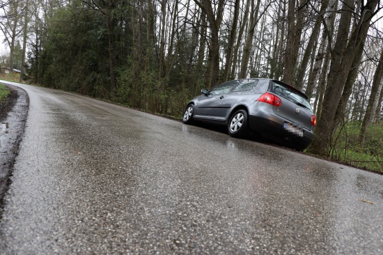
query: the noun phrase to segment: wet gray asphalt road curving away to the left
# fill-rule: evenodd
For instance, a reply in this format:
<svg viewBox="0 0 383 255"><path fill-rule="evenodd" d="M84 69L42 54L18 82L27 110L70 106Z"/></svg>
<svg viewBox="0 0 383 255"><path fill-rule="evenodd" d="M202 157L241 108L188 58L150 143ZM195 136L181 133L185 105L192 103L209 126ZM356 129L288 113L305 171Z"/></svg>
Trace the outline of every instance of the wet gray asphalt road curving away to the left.
<svg viewBox="0 0 383 255"><path fill-rule="evenodd" d="M383 254L383 176L22 88L1 254Z"/></svg>

